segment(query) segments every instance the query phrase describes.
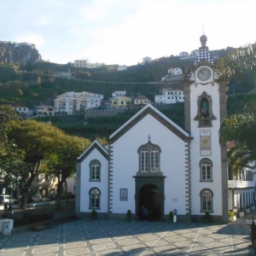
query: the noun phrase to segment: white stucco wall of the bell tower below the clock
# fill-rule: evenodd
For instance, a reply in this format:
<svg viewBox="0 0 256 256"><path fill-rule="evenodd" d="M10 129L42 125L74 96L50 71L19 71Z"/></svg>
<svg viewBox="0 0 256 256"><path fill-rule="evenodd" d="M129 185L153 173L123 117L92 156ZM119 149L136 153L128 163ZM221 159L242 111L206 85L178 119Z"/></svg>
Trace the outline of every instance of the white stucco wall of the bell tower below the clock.
<svg viewBox="0 0 256 256"><path fill-rule="evenodd" d="M213 193L213 212L212 215L222 215L222 180L221 180L221 148L219 145L218 131L220 127L219 119L219 92L218 84L202 85L192 84L190 87L190 109L191 109L191 191L192 191L192 214L204 215L201 212L202 189L211 189ZM212 127L198 127L198 120L194 120L197 115L197 99L203 92L212 96L212 113L217 118L212 120ZM200 131L211 131L211 155L200 155ZM212 182L200 182L200 161L204 158L212 160Z"/></svg>

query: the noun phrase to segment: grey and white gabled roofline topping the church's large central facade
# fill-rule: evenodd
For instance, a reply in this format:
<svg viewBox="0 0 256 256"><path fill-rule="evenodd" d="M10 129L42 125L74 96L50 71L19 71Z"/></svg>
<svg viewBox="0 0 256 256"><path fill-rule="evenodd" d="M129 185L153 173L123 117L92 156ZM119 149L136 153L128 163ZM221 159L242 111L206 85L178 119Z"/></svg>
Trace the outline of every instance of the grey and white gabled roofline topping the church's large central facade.
<svg viewBox="0 0 256 256"><path fill-rule="evenodd" d="M126 131L130 130L132 126L136 125L139 120L143 119L147 114L152 115L155 119L158 119L162 125L165 125L170 131L175 133L177 137L180 137L183 141L188 142L191 137L189 133L183 131L181 127L176 125L171 119L168 119L166 115L161 113L157 108L154 108L150 103L148 103L144 108L137 112L131 119L125 122L124 125L119 127L117 131L109 137L110 143L115 142L119 137L123 136Z"/></svg>

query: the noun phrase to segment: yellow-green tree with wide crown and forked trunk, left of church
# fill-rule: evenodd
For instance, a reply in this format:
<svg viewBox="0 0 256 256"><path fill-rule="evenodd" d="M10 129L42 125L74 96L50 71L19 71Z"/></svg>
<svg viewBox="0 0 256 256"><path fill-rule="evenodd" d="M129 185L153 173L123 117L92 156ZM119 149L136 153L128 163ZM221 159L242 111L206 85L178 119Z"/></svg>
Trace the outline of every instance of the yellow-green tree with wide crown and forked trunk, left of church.
<svg viewBox="0 0 256 256"><path fill-rule="evenodd" d="M62 131L53 125L32 119L12 121L10 125L9 139L24 152L23 161L26 163L26 170L20 176L21 207L23 207L27 200L28 189L34 177L38 175L41 161L55 151L55 144Z"/></svg>

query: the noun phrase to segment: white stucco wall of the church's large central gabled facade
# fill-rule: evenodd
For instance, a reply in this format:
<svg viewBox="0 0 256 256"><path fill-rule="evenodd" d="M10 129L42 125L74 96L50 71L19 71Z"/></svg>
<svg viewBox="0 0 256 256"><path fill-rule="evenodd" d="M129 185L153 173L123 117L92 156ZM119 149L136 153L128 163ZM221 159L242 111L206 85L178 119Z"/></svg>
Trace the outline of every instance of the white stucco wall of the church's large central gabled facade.
<svg viewBox="0 0 256 256"><path fill-rule="evenodd" d="M165 214L177 209L185 214L185 144L151 115L113 143L113 213L135 212L135 178L139 171L137 150L150 141L160 147L160 171L165 178ZM119 201L119 189L128 189L128 201ZM174 199L174 201L172 201ZM177 200L177 201L176 201Z"/></svg>

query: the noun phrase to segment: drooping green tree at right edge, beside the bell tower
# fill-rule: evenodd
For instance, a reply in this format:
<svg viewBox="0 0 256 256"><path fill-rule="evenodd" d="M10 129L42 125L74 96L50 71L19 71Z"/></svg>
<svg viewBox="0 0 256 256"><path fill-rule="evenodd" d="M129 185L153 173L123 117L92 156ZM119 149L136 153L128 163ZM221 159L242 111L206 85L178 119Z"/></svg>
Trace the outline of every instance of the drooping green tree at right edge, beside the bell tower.
<svg viewBox="0 0 256 256"><path fill-rule="evenodd" d="M222 143L236 140L235 147L228 152L234 174L241 176L247 167L255 168L256 163L256 91L247 95L244 101L244 113L225 119L220 130Z"/></svg>

